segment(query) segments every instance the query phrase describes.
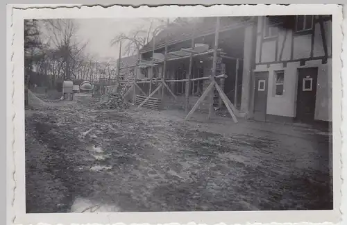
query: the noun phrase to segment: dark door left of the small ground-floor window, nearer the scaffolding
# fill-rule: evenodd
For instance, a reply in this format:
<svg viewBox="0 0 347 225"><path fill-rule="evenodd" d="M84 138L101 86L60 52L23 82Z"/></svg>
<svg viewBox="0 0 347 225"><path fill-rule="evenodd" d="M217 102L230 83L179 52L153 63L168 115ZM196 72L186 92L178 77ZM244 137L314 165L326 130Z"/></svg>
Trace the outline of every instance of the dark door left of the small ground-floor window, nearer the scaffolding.
<svg viewBox="0 0 347 225"><path fill-rule="evenodd" d="M255 73L254 119L266 121L267 90L269 72Z"/></svg>

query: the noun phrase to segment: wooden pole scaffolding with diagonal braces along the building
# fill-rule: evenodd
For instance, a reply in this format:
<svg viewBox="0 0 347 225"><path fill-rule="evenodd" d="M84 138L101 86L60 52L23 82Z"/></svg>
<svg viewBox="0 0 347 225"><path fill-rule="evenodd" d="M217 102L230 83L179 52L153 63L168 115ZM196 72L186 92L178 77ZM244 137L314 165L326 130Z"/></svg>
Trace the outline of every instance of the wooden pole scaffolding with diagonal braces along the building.
<svg viewBox="0 0 347 225"><path fill-rule="evenodd" d="M167 24L169 25L169 19L167 21ZM165 47L164 47L164 58L162 60L155 59L154 51L155 51L155 35L153 35L153 50L152 50L152 58L151 60L140 60L139 57L137 59L136 65L128 65L126 67L120 67L120 60L119 58L119 69L117 74L117 81L119 81L119 71L120 69L126 69L130 67L135 67L135 74L133 78L128 78L127 81L119 81L119 83L122 84L123 88L121 89L121 94L126 97L131 90L133 90L133 104L137 105L137 108L141 108L142 106L146 106L147 108L158 108L161 101L164 101L164 89L167 89L167 91L174 97L174 99L177 99L174 92L171 90L169 85L167 83L173 82L186 82L185 85L185 110L187 112L187 116L185 117L185 120L188 120L192 117L198 106L201 104L201 102L208 97L209 99L209 113L208 113L208 119L210 119L214 113L213 103L214 103L214 92L217 92L220 97L220 103L223 102L226 108L228 109L228 113L230 113L230 116L232 117L233 121L237 123L237 117L239 117L239 112L235 108L235 106L231 103L231 101L228 99L226 94L223 91L223 88L221 88L221 85L223 85L223 82L220 82L221 85L219 85L218 79L223 81L227 76L226 74L217 75L217 58L219 56L222 56L223 53L221 52L221 49L219 49L219 26L220 26L220 17L217 17L216 21L216 28L214 31L214 48L213 49L207 49L205 51L197 51L196 43L194 42L194 36L195 36L195 28L194 28L194 34L192 37L192 47L189 49L181 49L180 51L189 53L188 56L182 56L177 51L168 53L168 35L165 38ZM213 54L212 56L212 73L210 76L204 76L199 78L192 78L192 64L193 64L193 58L195 56L203 56ZM174 57L170 57L174 56ZM223 57L223 56L222 56ZM189 71L186 74L185 79L167 79L167 62L171 60L180 60L183 58L189 58ZM159 65L160 63L163 64L163 70L162 70L162 77L161 78L153 78L153 67ZM238 60L237 60L238 65ZM138 78L138 69L141 67L151 67L151 76L149 78ZM189 92L190 92L190 83L192 81L210 81L208 88L205 89L203 94L201 94L201 97L199 97L198 101L194 104L191 110L189 110ZM149 83L149 94L147 95L142 88L139 87L139 83ZM152 92L152 84L158 83L158 87L155 88ZM130 87L130 88L128 88ZM237 87L237 85L235 85ZM125 92L126 88L128 90ZM139 92L142 93L142 95L136 95L136 89L139 90ZM158 91L161 92L161 98L154 98L153 95L156 94ZM235 97L236 99L236 97Z"/></svg>

